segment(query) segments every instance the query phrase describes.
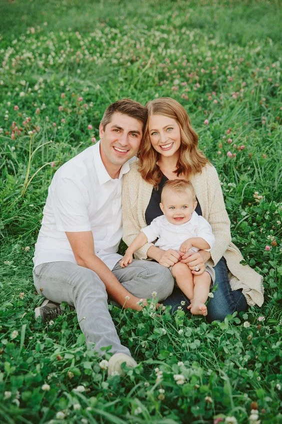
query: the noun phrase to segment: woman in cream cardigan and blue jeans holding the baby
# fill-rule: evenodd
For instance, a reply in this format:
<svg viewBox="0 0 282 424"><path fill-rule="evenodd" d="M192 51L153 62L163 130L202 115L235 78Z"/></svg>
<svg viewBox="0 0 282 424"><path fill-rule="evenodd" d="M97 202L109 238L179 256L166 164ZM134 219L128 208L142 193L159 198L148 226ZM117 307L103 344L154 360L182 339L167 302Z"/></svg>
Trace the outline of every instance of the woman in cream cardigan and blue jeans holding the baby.
<svg viewBox="0 0 282 424"><path fill-rule="evenodd" d="M185 109L168 97L147 103L148 121L138 153L123 180L123 240L129 245L140 229L162 215L160 191L167 179L190 180L197 198L196 212L211 225L215 244L210 252L180 256L176 250L163 251L147 243L136 259L153 259L170 267L178 261L188 264L194 275L202 273L205 263L214 267L213 298L208 303L207 320L224 320L234 311L245 311L247 305L263 303L262 277L249 266L243 266L239 250L231 243L230 221L226 213L220 182L215 168L198 150L197 135ZM163 302L178 306L189 301L175 288Z"/></svg>

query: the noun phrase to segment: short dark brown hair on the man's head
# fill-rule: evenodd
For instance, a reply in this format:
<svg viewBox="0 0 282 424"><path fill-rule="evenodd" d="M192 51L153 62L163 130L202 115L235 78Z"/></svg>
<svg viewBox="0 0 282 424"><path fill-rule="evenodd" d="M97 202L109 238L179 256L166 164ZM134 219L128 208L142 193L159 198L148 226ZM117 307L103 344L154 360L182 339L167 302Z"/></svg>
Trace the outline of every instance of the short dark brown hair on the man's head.
<svg viewBox="0 0 282 424"><path fill-rule="evenodd" d="M139 102L135 102L131 99L121 99L109 105L104 111L101 124L103 128L110 122L113 113L119 112L124 115L128 115L131 118L135 118L143 123L142 131L144 131L148 112L147 109Z"/></svg>

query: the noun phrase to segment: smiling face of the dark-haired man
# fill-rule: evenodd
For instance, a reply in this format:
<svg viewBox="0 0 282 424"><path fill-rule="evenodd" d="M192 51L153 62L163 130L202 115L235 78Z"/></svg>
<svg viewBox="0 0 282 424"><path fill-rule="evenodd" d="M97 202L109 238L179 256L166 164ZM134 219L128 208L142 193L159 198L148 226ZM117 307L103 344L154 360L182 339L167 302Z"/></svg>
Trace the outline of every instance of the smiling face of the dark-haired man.
<svg viewBox="0 0 282 424"><path fill-rule="evenodd" d="M100 154L109 174L137 153L142 126L141 121L119 112L112 114L105 127L100 124Z"/></svg>

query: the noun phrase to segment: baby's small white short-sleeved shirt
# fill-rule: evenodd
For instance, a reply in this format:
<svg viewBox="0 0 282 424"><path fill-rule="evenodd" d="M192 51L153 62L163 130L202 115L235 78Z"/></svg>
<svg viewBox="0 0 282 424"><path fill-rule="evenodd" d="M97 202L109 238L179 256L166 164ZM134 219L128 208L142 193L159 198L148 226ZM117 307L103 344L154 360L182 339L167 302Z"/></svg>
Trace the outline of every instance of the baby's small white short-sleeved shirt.
<svg viewBox="0 0 282 424"><path fill-rule="evenodd" d="M154 240L155 246L163 250L174 249L179 250L180 245L191 237L200 237L209 244L210 249L214 245L214 236L208 222L198 215L195 211L192 213L191 219L185 224L170 224L164 215L152 220L150 225L141 230L148 243ZM207 252L210 249L205 249ZM191 250L197 252L198 249L193 247Z"/></svg>

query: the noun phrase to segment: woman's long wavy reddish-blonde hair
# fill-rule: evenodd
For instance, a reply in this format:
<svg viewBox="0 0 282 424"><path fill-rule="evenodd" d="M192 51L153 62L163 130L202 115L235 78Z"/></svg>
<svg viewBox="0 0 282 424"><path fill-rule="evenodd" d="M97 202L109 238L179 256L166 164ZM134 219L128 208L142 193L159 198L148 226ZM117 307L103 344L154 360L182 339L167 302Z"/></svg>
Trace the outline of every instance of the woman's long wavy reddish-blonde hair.
<svg viewBox="0 0 282 424"><path fill-rule="evenodd" d="M162 173L156 163L160 154L152 147L148 132L148 121L151 115L163 115L172 118L180 127L180 154L174 171L175 174L190 179L192 175L201 172L208 160L198 149L198 136L192 129L188 114L183 106L170 97L160 97L151 100L145 107L148 110L148 120L137 154L139 159L138 170L142 178L154 187L158 186L162 178Z"/></svg>

